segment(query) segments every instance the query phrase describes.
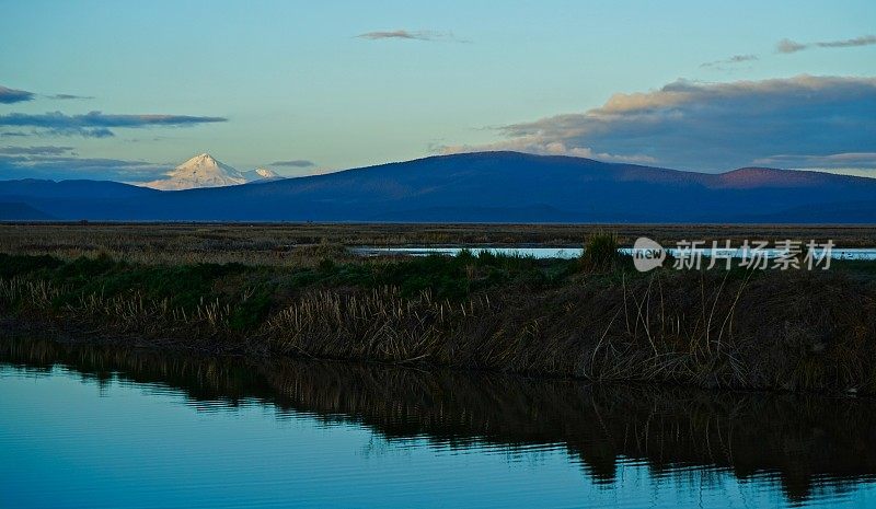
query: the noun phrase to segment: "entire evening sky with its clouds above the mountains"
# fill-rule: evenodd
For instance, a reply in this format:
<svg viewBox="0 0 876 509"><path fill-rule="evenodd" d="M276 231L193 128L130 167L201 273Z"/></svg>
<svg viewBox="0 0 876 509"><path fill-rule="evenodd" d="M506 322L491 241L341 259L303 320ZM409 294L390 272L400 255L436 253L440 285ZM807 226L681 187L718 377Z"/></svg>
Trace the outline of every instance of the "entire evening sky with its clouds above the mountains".
<svg viewBox="0 0 876 509"><path fill-rule="evenodd" d="M0 0L0 180L520 150L876 176L876 2Z"/></svg>

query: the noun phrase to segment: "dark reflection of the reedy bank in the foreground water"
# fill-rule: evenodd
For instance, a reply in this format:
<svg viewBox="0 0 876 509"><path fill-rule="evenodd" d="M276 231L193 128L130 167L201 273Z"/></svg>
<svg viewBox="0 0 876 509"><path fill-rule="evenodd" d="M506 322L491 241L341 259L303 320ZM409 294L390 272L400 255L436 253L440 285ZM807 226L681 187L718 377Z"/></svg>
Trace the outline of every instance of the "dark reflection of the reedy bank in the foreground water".
<svg viewBox="0 0 876 509"><path fill-rule="evenodd" d="M423 371L312 360L254 363L119 347L3 339L0 361L33 373L57 365L106 385L182 392L203 412L272 405L324 426L356 424L385 442L510 461L565 449L607 487L629 464L650 481L698 489L731 473L781 488L786 501L841 497L876 474L876 403L816 395L607 386L503 374ZM380 454L381 440L364 454ZM417 446L418 447L418 446ZM719 475L721 474L721 475Z"/></svg>

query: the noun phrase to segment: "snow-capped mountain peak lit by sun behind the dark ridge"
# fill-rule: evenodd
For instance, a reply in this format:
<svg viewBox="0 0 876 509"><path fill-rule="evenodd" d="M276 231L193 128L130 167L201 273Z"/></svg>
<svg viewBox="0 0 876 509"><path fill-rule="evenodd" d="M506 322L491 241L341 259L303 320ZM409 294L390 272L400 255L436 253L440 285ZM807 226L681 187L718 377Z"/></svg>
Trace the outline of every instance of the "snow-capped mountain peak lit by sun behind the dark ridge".
<svg viewBox="0 0 876 509"><path fill-rule="evenodd" d="M217 161L208 153L200 153L166 173L166 178L147 182L146 187L162 190L194 189L197 187L222 187L246 184L262 178L277 178L270 170L239 172Z"/></svg>

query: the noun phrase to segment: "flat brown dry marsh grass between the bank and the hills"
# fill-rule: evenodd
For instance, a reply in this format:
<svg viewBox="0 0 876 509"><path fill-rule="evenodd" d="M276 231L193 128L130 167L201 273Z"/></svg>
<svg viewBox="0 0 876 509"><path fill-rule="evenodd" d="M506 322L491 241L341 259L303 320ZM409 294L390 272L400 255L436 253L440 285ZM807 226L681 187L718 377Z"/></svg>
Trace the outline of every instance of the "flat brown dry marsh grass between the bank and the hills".
<svg viewBox="0 0 876 509"><path fill-rule="evenodd" d="M638 236L665 245L680 240L772 243L792 239L833 240L842 247L876 246L876 225L0 223L0 253L49 254L62 259L106 254L141 264L290 266L344 256L345 246L580 246L602 231L616 234L622 246L632 245Z"/></svg>

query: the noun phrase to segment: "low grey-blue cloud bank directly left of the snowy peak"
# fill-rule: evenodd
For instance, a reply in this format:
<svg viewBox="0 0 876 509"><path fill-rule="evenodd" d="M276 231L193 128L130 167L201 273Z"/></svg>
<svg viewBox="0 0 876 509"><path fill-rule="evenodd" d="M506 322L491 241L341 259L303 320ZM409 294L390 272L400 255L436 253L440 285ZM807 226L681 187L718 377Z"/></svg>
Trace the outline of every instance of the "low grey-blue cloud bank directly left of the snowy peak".
<svg viewBox="0 0 876 509"><path fill-rule="evenodd" d="M53 154L0 154L0 180L110 180L148 182L168 172L169 164L119 159L76 158Z"/></svg>

